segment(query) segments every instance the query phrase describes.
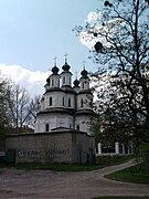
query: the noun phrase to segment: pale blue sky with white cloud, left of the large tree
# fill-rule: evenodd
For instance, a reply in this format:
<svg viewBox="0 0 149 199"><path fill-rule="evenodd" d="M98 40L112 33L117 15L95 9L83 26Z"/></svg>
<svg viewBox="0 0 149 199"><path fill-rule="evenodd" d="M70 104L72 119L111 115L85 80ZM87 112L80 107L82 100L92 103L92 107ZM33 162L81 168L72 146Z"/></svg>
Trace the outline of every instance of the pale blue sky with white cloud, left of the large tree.
<svg viewBox="0 0 149 199"><path fill-rule="evenodd" d="M0 0L0 69L36 94L43 92L38 84L44 85L54 56L62 67L67 53L73 73L79 74L83 61L95 70L72 29L98 7L98 0Z"/></svg>

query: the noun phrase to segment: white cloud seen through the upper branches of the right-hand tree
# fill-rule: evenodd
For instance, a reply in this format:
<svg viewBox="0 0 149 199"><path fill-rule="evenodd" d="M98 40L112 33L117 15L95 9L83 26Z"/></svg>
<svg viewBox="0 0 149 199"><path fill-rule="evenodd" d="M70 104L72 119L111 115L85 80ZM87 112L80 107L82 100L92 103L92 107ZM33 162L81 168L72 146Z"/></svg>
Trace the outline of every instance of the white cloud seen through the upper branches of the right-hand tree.
<svg viewBox="0 0 149 199"><path fill-rule="evenodd" d="M85 30L79 32L79 41L89 50L94 48L97 41L100 41L106 48L110 48L111 43L107 42L104 35L108 34L114 38L116 34L121 34L121 28L126 25L119 18L104 20L102 12L89 12L85 22ZM94 32L97 33L97 36L94 36Z"/></svg>

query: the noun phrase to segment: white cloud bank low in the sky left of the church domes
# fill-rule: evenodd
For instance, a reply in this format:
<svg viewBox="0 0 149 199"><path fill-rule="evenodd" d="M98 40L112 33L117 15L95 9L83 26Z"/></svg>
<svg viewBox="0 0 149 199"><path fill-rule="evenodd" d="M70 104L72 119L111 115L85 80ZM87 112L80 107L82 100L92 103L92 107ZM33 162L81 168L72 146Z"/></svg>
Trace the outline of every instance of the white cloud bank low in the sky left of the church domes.
<svg viewBox="0 0 149 199"><path fill-rule="evenodd" d="M15 84L25 87L31 96L43 94L49 72L30 71L21 65L7 64L0 64L0 71Z"/></svg>

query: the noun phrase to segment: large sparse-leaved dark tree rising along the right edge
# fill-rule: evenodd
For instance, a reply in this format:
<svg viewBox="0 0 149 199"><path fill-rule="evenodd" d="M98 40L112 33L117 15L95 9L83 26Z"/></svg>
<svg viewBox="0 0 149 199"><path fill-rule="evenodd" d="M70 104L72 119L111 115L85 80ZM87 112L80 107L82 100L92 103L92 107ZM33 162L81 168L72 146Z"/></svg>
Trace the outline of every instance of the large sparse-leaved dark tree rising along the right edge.
<svg viewBox="0 0 149 199"><path fill-rule="evenodd" d="M99 64L94 80L107 85L97 91L99 113L109 106L119 127L137 142L149 140L148 11L148 0L105 1L92 23L74 29L93 45L92 57Z"/></svg>

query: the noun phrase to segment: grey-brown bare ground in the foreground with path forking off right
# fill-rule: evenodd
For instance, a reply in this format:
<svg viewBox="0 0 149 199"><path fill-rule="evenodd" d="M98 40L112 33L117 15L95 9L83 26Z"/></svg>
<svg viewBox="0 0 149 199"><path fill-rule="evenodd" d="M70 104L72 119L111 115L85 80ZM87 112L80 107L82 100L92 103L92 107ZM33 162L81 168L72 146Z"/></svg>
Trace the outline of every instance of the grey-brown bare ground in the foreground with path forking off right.
<svg viewBox="0 0 149 199"><path fill-rule="evenodd" d="M0 198L91 199L98 196L149 196L149 185L120 182L104 175L134 165L129 163L94 171L0 169Z"/></svg>

